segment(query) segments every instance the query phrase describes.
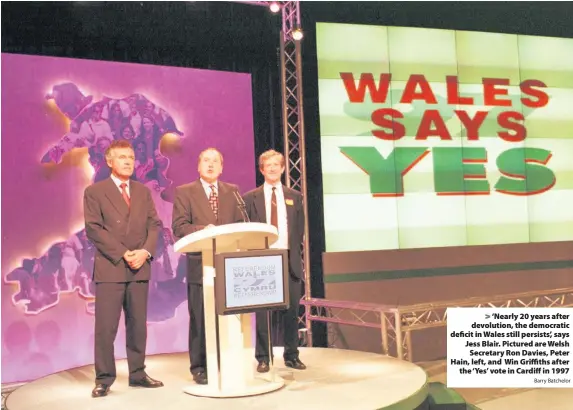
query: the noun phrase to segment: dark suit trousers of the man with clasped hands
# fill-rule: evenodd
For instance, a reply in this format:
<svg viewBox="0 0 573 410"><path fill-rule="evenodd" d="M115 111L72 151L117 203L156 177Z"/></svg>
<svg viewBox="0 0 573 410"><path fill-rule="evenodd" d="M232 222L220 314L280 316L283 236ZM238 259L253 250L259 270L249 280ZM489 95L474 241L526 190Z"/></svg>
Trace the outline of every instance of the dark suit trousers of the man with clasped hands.
<svg viewBox="0 0 573 410"><path fill-rule="evenodd" d="M95 288L96 383L111 385L115 381L113 343L117 336L122 309L125 316L125 347L129 379L144 378L149 282L99 282Z"/></svg>

